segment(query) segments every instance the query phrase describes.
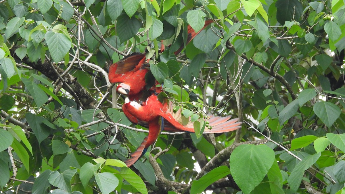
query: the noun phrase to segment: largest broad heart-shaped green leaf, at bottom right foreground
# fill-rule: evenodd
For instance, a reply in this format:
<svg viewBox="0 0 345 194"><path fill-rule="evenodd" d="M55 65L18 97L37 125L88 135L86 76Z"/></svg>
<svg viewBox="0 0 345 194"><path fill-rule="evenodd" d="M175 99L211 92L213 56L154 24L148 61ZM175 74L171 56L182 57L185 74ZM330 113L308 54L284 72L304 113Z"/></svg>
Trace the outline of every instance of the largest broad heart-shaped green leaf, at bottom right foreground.
<svg viewBox="0 0 345 194"><path fill-rule="evenodd" d="M274 152L266 145L240 145L230 156L231 175L244 193L250 193L274 161Z"/></svg>

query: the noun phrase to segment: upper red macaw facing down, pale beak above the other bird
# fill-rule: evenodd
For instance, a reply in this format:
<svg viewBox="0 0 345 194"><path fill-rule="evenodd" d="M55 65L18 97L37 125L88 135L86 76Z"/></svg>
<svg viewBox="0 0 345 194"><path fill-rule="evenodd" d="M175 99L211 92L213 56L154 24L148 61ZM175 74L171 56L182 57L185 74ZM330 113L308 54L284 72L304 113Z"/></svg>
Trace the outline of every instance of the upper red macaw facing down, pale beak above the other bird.
<svg viewBox="0 0 345 194"><path fill-rule="evenodd" d="M145 64L145 53L134 52L110 65L108 70L110 83L120 82L116 90L121 94L136 95L145 88L145 74L149 71Z"/></svg>

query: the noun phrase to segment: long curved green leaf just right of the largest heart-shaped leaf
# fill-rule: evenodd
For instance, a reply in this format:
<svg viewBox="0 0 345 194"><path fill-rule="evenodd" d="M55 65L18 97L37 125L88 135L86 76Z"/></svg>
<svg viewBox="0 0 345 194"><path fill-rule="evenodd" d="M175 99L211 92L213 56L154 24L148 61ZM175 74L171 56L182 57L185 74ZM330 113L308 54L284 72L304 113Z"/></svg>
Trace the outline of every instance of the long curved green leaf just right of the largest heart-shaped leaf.
<svg viewBox="0 0 345 194"><path fill-rule="evenodd" d="M314 155L307 156L302 161L300 161L296 165L296 167L292 170L290 176L287 178L287 181L289 182L290 189L293 192L296 192L297 189L299 188L304 171L310 168L320 156L321 156L320 152Z"/></svg>

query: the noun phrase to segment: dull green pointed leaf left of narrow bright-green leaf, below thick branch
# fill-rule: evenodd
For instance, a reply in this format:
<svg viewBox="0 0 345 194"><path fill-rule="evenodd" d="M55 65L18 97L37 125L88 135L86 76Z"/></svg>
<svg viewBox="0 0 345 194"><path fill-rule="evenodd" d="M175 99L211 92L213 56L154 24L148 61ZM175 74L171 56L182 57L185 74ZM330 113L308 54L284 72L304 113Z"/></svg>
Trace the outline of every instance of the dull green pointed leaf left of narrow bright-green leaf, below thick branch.
<svg viewBox="0 0 345 194"><path fill-rule="evenodd" d="M21 78L26 88L29 90L29 93L31 94L33 100L36 102L37 107L41 107L43 104L45 104L48 101L48 97L46 93L33 81L28 80L26 78Z"/></svg>

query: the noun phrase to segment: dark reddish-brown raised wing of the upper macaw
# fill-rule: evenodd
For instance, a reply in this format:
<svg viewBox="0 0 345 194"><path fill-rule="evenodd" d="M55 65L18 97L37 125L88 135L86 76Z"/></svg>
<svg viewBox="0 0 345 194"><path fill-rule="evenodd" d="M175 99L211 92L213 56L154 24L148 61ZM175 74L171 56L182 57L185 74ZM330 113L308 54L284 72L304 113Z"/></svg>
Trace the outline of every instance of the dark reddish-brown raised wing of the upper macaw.
<svg viewBox="0 0 345 194"><path fill-rule="evenodd" d="M136 66L142 61L145 61L146 54L134 52L127 57L116 62L118 64L115 71L116 74L124 74L125 72L134 70ZM144 63L144 61L142 63ZM142 65L142 64L141 64Z"/></svg>

